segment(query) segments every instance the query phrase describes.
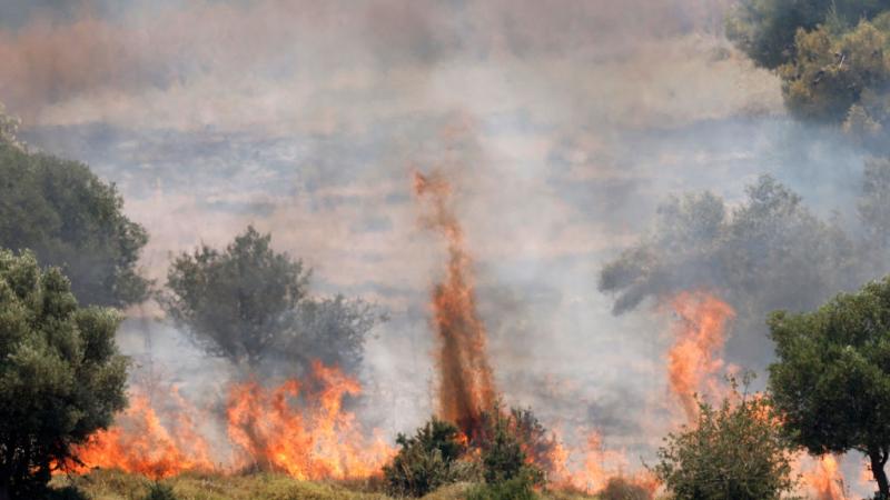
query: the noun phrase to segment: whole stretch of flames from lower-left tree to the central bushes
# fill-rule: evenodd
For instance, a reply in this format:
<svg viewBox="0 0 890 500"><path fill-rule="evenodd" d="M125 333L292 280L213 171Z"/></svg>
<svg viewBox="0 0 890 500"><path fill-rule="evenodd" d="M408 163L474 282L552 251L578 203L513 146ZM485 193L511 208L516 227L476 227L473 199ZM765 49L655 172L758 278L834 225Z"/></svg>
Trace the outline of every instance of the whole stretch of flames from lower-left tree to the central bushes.
<svg viewBox="0 0 890 500"><path fill-rule="evenodd" d="M190 470L233 472L247 467L286 472L297 479L354 479L379 472L395 450L379 432L366 439L346 396L362 387L335 367L316 361L305 380L290 379L266 389L257 382L234 383L226 418L234 454L211 460L211 447L197 421L200 412L175 389L159 412L142 394L115 426L76 449L81 463L65 469L118 468L159 479Z"/></svg>

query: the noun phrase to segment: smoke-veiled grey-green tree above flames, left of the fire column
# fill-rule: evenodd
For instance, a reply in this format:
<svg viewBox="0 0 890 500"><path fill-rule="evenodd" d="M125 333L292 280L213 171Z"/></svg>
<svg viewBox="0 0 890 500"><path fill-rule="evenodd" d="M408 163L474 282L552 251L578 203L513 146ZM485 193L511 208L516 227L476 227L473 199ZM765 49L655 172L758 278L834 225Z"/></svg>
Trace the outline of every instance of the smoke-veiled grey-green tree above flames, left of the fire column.
<svg viewBox="0 0 890 500"><path fill-rule="evenodd" d="M224 250L204 246L170 267L167 312L209 353L256 369L284 357L319 359L355 372L367 332L380 319L362 300L307 298L309 271L253 227Z"/></svg>

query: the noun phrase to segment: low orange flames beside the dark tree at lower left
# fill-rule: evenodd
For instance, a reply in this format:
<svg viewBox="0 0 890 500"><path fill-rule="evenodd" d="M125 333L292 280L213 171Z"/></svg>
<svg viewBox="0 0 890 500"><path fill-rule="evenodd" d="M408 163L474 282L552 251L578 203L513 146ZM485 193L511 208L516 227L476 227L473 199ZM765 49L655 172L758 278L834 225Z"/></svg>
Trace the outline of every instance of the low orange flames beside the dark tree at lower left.
<svg viewBox="0 0 890 500"><path fill-rule="evenodd" d="M118 468L159 479L187 470L214 468L207 441L198 432L188 407L176 389L176 408L169 419L161 419L142 394L130 397L130 407L116 424L90 437L77 448L81 464L67 469L82 473L92 468Z"/></svg>

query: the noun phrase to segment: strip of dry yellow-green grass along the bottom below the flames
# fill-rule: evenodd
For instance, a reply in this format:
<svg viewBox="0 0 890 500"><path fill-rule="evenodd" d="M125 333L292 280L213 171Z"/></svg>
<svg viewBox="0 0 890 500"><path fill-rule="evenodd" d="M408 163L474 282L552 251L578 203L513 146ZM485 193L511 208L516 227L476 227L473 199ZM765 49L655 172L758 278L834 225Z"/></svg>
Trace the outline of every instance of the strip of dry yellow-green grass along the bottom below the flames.
<svg viewBox="0 0 890 500"><path fill-rule="evenodd" d="M187 473L161 480L178 500L390 500L375 481L315 482L288 476L251 473L240 476ZM151 481L142 476L96 470L85 476L57 477L53 487L75 486L92 500L141 500ZM473 484L451 484L424 497L425 500L462 500ZM593 500L572 492L541 492L544 500Z"/></svg>

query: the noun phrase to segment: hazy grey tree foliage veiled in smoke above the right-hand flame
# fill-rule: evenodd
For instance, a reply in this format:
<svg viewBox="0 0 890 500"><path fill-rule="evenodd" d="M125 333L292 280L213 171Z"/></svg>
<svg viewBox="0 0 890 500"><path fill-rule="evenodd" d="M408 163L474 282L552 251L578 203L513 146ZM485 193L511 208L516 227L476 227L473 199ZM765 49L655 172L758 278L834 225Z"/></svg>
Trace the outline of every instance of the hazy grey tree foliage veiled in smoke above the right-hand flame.
<svg viewBox="0 0 890 500"><path fill-rule="evenodd" d="M600 290L616 294L614 312L706 288L762 322L770 310L813 307L854 282L856 248L839 227L772 177L746 193L734 210L710 192L663 203L653 231L601 270Z"/></svg>

